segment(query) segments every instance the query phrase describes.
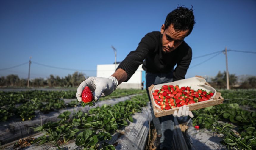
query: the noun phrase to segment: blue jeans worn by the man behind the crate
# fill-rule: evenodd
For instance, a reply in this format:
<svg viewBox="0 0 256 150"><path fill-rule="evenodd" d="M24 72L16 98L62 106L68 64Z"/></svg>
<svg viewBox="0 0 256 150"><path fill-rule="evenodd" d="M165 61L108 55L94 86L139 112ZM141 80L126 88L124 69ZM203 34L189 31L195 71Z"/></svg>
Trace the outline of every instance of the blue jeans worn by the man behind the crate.
<svg viewBox="0 0 256 150"><path fill-rule="evenodd" d="M152 84L161 84L173 81L173 73L149 73L146 72L146 90L149 97L149 90ZM150 97L149 97L150 100ZM160 148L166 147L171 148L172 146L172 139L173 139L173 129L174 129L174 117L173 115L167 115L163 117L155 118L154 111L151 105L151 115L154 126L156 128L157 134L162 135L160 139Z"/></svg>

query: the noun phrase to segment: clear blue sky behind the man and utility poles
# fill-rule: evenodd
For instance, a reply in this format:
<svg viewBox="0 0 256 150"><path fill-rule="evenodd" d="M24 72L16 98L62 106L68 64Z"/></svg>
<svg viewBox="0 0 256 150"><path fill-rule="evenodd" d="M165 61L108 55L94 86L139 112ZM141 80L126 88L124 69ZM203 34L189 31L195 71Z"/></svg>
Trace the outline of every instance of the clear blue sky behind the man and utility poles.
<svg viewBox="0 0 256 150"><path fill-rule="evenodd" d="M196 25L185 38L193 57L227 49L256 52L256 1L0 1L0 69L23 62L73 68L96 76L97 64L117 61L136 49L148 32L160 31L178 5L193 5ZM191 66L212 56L193 59ZM230 74L256 76L256 54L228 52ZM225 55L189 68L186 77L216 76L226 69ZM31 78L60 77L74 71L31 64ZM28 64L0 70L0 76L27 78Z"/></svg>

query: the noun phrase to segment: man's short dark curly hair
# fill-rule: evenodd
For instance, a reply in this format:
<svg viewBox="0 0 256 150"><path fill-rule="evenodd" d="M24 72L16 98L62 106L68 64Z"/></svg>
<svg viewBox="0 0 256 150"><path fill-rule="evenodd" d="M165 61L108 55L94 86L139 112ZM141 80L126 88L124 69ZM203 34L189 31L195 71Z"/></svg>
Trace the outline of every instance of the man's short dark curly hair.
<svg viewBox="0 0 256 150"><path fill-rule="evenodd" d="M173 24L174 29L176 31L185 31L189 29L189 32L188 32L188 35L189 35L192 32L194 24L196 23L192 8L188 9L184 6L180 6L180 7L178 6L177 9L170 12L167 15L164 23L165 30L171 24Z"/></svg>

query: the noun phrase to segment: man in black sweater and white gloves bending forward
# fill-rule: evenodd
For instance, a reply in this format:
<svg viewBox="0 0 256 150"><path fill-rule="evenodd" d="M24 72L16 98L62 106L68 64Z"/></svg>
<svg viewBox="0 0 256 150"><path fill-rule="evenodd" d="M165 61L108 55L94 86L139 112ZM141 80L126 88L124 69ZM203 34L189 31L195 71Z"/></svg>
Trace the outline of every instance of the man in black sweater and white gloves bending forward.
<svg viewBox="0 0 256 150"><path fill-rule="evenodd" d="M154 31L145 35L135 51L131 51L120 63L117 70L108 78L90 77L83 81L77 89L77 99L81 102L81 93L85 86L94 92L95 101L101 96L111 94L122 82L127 82L135 73L138 66L146 71L146 90L152 84L161 84L185 79L185 74L192 59L192 50L185 43L195 24L193 10L178 7L169 13L160 32ZM143 61L144 60L144 61ZM174 69L174 66L177 67ZM185 105L175 111L173 115L155 118L151 107L154 126L157 130L157 141L154 143L159 149L171 149L174 117L193 117L189 107Z"/></svg>

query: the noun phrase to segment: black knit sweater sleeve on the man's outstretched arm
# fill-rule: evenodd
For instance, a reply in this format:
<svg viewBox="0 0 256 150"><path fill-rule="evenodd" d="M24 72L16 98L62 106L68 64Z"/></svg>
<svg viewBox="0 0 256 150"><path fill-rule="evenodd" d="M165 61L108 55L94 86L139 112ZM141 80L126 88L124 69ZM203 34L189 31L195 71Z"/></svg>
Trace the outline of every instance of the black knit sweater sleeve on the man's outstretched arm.
<svg viewBox="0 0 256 150"><path fill-rule="evenodd" d="M141 39L137 49L135 51L131 51L120 63L117 69L123 69L128 75L127 80L124 82L127 82L132 77L139 65L143 63L146 55L150 51L154 51L155 45L156 39L152 34L148 33Z"/></svg>

